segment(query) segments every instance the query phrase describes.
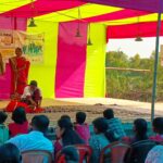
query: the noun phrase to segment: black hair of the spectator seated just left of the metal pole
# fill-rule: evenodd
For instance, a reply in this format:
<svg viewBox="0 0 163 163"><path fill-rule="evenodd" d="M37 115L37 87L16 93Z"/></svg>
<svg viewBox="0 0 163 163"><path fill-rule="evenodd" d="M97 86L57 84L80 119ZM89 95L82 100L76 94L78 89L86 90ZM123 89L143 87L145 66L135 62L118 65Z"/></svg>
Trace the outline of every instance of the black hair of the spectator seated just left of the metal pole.
<svg viewBox="0 0 163 163"><path fill-rule="evenodd" d="M147 137L147 129L148 129L147 121L143 118L136 118L134 121L134 126L136 130L136 139L146 140L148 138Z"/></svg>

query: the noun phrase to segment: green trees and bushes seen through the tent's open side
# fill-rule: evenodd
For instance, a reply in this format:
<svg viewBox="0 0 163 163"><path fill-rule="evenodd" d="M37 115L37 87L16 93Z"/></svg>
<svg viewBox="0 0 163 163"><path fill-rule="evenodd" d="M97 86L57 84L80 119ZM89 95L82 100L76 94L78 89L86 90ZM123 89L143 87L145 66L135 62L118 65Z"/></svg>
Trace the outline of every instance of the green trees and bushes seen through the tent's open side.
<svg viewBox="0 0 163 163"><path fill-rule="evenodd" d="M106 53L106 66L150 70L150 73L106 70L106 92L109 97L139 101L151 101L154 52L149 59L141 59L139 54L128 58L122 51ZM158 67L158 98L163 101L163 67Z"/></svg>

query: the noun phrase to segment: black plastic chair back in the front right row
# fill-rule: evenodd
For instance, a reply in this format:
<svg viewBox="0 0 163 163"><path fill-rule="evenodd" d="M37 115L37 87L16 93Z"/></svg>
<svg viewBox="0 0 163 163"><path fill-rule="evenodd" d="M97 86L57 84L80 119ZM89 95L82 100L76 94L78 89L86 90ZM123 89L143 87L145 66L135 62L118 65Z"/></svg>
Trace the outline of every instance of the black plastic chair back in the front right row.
<svg viewBox="0 0 163 163"><path fill-rule="evenodd" d="M131 145L125 155L125 163L145 163L148 152L156 143L152 140L142 140Z"/></svg>

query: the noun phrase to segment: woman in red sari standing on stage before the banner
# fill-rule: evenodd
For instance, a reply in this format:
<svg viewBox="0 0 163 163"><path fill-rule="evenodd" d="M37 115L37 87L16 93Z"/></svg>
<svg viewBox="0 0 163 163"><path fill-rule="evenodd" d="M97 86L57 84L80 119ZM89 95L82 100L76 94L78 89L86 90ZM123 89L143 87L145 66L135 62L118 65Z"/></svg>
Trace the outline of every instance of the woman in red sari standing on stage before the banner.
<svg viewBox="0 0 163 163"><path fill-rule="evenodd" d="M11 66L11 96L22 95L25 86L27 85L29 61L22 57L22 49L16 48L16 57L10 58L9 63Z"/></svg>

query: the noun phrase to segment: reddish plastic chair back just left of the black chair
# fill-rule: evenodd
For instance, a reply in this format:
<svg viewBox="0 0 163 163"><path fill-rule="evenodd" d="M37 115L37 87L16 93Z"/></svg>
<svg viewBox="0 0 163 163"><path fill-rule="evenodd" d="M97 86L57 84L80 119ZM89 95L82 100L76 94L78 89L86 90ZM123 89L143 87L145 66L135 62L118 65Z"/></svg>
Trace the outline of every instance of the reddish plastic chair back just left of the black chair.
<svg viewBox="0 0 163 163"><path fill-rule="evenodd" d="M110 159L111 163L123 163L129 145L121 141L113 142L104 147L100 153L100 163L104 163L105 159Z"/></svg>

